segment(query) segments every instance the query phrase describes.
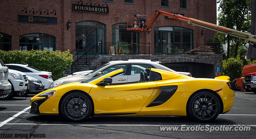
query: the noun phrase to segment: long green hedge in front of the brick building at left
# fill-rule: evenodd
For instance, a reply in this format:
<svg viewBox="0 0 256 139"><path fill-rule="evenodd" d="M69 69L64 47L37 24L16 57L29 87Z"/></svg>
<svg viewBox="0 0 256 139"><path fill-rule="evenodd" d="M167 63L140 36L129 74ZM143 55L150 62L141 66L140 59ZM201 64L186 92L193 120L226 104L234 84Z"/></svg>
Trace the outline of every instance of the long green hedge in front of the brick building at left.
<svg viewBox="0 0 256 139"><path fill-rule="evenodd" d="M28 64L43 71L52 72L53 80L64 76L64 72L72 64L72 55L68 51L31 50L0 51L0 58L5 64Z"/></svg>

